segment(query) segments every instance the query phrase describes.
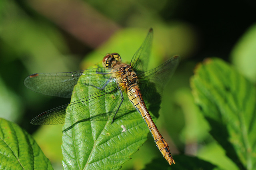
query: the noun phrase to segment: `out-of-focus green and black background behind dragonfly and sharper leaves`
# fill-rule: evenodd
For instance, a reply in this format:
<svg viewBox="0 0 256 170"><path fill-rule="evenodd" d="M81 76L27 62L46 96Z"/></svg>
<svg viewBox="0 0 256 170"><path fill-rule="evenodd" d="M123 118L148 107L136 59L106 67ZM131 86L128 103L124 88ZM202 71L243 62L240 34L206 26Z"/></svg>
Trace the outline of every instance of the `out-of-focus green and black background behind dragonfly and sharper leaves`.
<svg viewBox="0 0 256 170"><path fill-rule="evenodd" d="M30 121L69 99L30 91L23 85L24 78L32 73L86 69L109 52L130 61L152 27L150 68L173 55L182 58L166 86L156 123L174 159L175 154L189 154L232 168L208 134L208 124L194 105L189 79L198 62L220 57L255 82L255 16L254 1L1 0L0 117L33 134L54 168L61 168L62 125L40 127ZM158 157L162 155L149 136L123 167L141 169Z"/></svg>

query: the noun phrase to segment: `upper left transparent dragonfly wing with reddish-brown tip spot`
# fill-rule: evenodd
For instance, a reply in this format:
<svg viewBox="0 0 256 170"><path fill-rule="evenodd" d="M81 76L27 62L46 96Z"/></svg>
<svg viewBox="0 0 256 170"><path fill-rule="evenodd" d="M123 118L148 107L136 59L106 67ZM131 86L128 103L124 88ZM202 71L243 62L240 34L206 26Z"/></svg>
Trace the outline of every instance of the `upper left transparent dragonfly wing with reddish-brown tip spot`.
<svg viewBox="0 0 256 170"><path fill-rule="evenodd" d="M102 74L98 74L101 72ZM70 98L74 85L79 77L96 77L107 78L111 72L106 68L87 69L65 73L36 73L24 79L24 85L29 89L49 96Z"/></svg>

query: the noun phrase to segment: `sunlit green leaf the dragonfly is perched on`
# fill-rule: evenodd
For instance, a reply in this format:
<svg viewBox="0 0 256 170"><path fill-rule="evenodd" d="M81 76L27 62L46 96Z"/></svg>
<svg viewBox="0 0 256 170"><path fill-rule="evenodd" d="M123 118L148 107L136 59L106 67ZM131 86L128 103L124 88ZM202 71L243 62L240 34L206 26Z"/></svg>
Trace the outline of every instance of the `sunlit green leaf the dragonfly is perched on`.
<svg viewBox="0 0 256 170"><path fill-rule="evenodd" d="M90 94L101 93L101 90L90 86L97 84L100 87L100 79L80 77L74 87L71 102ZM105 90L113 87L111 85L114 84L115 82L110 82ZM125 96L127 94L123 93L123 95L124 101L120 110L125 113L123 112L121 119L116 115L113 123L114 115L108 113L115 113L120 105L120 93L119 95L110 93L98 97L97 100L82 102L83 105L76 110L72 109L71 105L67 107L69 114L66 114L62 137L64 169L120 169L124 162L130 160L129 156L146 141L148 127ZM80 109L85 110L84 113L76 114ZM85 120L84 115L90 115L96 121ZM100 117L101 115L105 115L104 119Z"/></svg>

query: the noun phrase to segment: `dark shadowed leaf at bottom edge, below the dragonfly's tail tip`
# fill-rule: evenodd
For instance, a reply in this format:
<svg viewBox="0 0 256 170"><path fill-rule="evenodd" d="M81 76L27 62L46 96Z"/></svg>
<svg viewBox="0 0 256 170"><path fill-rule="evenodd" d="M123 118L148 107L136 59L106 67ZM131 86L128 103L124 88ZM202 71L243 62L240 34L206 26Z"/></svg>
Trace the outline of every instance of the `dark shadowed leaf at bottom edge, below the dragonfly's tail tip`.
<svg viewBox="0 0 256 170"><path fill-rule="evenodd" d="M186 156L186 155L175 155L175 162L170 166L166 164L164 159L155 159L152 163L148 164L145 170L199 170L199 169L207 169L213 170L217 169L217 166L211 164L210 162L201 160L199 158L193 156Z"/></svg>

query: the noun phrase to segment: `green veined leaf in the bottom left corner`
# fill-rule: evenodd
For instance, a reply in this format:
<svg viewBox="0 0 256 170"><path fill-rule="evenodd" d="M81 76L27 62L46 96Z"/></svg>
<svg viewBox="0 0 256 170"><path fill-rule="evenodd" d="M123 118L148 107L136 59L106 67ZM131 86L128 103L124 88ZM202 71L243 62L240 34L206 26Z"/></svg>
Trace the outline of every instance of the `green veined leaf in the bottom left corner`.
<svg viewBox="0 0 256 170"><path fill-rule="evenodd" d="M0 119L1 169L52 169L35 140L18 125Z"/></svg>

